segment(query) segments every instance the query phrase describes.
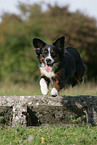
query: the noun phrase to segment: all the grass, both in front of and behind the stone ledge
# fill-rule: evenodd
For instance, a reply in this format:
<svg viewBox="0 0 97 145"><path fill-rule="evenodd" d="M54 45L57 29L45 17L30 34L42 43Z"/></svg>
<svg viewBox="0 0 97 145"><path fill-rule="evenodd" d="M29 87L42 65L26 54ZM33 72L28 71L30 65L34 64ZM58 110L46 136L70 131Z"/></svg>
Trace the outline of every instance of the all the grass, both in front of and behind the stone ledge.
<svg viewBox="0 0 97 145"><path fill-rule="evenodd" d="M39 85L34 84L0 84L0 96L40 95ZM69 87L60 95L92 95L97 96L97 85L85 83L74 88ZM53 125L40 127L15 128L0 127L0 144L2 145L97 145L97 127Z"/></svg>

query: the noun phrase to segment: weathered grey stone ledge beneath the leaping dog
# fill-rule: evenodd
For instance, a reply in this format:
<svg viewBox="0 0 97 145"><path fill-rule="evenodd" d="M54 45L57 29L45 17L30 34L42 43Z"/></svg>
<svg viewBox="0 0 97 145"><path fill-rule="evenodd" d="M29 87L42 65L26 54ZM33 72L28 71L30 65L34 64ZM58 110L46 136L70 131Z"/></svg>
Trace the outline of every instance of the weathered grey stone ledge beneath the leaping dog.
<svg viewBox="0 0 97 145"><path fill-rule="evenodd" d="M7 110L11 108L10 122L6 124L13 126L18 122L27 126L74 123L97 125L96 96L0 96L0 107L8 107ZM0 114L1 119L6 112Z"/></svg>

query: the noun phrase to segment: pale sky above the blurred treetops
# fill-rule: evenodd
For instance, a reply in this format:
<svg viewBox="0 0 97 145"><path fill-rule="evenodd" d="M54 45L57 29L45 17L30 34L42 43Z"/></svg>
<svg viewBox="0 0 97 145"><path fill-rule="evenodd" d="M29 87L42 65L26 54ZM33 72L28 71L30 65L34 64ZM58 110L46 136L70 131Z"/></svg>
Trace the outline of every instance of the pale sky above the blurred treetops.
<svg viewBox="0 0 97 145"><path fill-rule="evenodd" d="M0 15L2 12L12 12L19 13L17 9L18 2L28 2L28 3L39 3L46 2L54 5L57 3L59 6L69 5L69 10L74 12L76 10L80 10L82 13L95 17L97 20L97 0L0 0ZM46 7L44 7L44 10Z"/></svg>

